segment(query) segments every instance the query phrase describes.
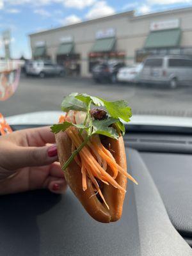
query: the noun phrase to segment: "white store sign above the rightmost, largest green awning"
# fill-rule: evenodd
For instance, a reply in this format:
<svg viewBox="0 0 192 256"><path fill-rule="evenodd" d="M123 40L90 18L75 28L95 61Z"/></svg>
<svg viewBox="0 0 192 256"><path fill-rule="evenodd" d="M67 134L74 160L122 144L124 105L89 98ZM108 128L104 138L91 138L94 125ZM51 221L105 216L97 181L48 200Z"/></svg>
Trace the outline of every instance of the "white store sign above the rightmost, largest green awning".
<svg viewBox="0 0 192 256"><path fill-rule="evenodd" d="M179 28L179 23L179 19L152 22L150 24L150 31Z"/></svg>

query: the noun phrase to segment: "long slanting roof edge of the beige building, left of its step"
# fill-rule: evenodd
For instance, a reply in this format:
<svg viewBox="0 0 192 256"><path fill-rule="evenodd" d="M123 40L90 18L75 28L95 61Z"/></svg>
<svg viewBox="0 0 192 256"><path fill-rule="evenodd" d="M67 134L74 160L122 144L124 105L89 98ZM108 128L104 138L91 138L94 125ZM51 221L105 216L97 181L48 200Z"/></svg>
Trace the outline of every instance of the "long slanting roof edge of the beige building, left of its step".
<svg viewBox="0 0 192 256"><path fill-rule="evenodd" d="M91 23L94 23L94 22L97 22L97 21L100 21L100 20L102 21L102 20L107 20L107 19L113 19L113 18L116 18L116 17L124 17L124 16L128 16L128 15L133 17L134 16L134 10L131 10L131 11L128 11L128 12L115 13L113 15L108 15L108 16L97 18L97 19L84 20L82 22L70 24L70 25L67 25L67 26L60 26L60 27L57 27L57 28L46 29L46 30L43 30L43 31L30 33L29 36L41 35L41 34L47 33L48 31L50 31L50 32L51 31L58 31L60 29L83 26L84 24L91 24Z"/></svg>

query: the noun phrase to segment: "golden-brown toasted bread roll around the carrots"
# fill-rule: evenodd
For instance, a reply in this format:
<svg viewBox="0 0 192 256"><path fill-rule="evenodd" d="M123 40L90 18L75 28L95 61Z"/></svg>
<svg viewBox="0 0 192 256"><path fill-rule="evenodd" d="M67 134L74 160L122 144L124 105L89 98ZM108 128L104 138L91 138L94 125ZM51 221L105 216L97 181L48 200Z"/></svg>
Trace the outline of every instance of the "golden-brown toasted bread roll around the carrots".
<svg viewBox="0 0 192 256"><path fill-rule="evenodd" d="M115 152L114 157L116 163L126 170L125 147L122 136L120 136L118 140L113 140L111 138L108 139L111 144L111 148ZM66 132L59 132L56 134L56 143L58 146L58 157L62 166L72 154L72 141L67 136ZM81 168L79 168L75 161L72 161L65 170L65 179L67 180L68 186L70 186L74 195L76 195L84 209L86 209L92 218L102 223L109 223L120 219L125 198L124 192L113 188L111 185L108 186L104 184L102 193L109 205L108 210L106 206L99 201L97 196L92 196L95 192L93 191L92 184L89 179L87 180L88 188L86 191L83 191ZM118 184L123 188L126 188L127 179L121 173L118 173L116 182L118 182Z"/></svg>

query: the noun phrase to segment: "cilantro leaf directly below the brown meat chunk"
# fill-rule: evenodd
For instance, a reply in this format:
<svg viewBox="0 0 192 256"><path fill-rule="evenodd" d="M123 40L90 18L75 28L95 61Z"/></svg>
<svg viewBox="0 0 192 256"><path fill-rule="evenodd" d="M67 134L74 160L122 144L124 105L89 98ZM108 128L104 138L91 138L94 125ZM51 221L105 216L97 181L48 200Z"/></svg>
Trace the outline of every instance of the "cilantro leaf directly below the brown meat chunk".
<svg viewBox="0 0 192 256"><path fill-rule="evenodd" d="M93 120L93 131L92 134L102 134L113 139L118 139L118 133L113 127L109 125L118 122L118 119L108 118L105 120Z"/></svg>

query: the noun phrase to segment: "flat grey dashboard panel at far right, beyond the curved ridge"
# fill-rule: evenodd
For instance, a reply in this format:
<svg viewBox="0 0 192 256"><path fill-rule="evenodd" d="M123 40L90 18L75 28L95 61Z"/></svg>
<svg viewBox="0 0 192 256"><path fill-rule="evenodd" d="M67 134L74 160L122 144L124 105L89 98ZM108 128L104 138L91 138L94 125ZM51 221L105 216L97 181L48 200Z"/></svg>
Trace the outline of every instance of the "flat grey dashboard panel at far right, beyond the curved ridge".
<svg viewBox="0 0 192 256"><path fill-rule="evenodd" d="M141 157L173 225L182 236L192 237L192 156L143 152Z"/></svg>

